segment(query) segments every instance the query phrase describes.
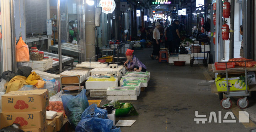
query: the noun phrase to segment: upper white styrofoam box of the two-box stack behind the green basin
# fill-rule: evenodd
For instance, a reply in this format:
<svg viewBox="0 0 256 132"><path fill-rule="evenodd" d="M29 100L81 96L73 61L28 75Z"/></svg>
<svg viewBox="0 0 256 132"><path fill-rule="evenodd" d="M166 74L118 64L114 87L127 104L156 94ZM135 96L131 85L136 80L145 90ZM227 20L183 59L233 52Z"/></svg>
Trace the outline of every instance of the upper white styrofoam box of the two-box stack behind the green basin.
<svg viewBox="0 0 256 132"><path fill-rule="evenodd" d="M137 87L109 87L107 95L137 95L137 89Z"/></svg>

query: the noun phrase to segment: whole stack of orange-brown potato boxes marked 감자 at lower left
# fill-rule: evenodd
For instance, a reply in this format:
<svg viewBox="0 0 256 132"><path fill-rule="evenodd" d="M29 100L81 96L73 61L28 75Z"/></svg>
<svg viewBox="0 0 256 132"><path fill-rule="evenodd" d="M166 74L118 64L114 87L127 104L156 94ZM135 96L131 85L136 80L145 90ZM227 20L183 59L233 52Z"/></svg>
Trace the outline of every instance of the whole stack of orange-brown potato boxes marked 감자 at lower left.
<svg viewBox="0 0 256 132"><path fill-rule="evenodd" d="M2 96L0 129L18 124L19 128L25 132L46 131L46 107L48 105L48 90L6 93Z"/></svg>

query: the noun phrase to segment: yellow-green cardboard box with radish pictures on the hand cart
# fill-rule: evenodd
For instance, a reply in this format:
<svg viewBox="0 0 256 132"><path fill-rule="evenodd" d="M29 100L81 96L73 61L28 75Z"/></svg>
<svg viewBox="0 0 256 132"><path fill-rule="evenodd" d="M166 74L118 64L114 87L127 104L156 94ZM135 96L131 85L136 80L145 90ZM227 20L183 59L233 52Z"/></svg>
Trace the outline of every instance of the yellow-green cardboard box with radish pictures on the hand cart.
<svg viewBox="0 0 256 132"><path fill-rule="evenodd" d="M244 78L244 76L228 78L229 91L246 90L245 81L243 81L242 78ZM227 91L225 77L222 77L221 75L217 75L217 78L215 78L215 84L219 92ZM249 90L248 86L247 88Z"/></svg>

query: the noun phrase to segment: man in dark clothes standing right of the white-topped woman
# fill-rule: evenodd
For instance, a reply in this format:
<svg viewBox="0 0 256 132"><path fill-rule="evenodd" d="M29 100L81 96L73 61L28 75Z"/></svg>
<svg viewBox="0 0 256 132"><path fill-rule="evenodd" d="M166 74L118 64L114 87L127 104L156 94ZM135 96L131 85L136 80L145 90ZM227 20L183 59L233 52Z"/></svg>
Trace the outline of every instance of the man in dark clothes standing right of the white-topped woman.
<svg viewBox="0 0 256 132"><path fill-rule="evenodd" d="M178 53L179 51L179 47L180 47L180 32L178 30L178 24L179 24L179 21L178 19L174 20L174 24L172 25L172 35L173 35L173 38L172 38L172 48L171 48L171 53Z"/></svg>

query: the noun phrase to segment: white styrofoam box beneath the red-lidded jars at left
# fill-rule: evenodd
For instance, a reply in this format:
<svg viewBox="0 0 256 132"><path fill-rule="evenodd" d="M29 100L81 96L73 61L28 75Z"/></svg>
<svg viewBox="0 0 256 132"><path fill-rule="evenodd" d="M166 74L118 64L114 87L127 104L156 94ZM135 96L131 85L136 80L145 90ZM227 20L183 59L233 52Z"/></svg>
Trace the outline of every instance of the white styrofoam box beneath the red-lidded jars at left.
<svg viewBox="0 0 256 132"><path fill-rule="evenodd" d="M33 70L45 71L52 68L53 59L43 59L42 61L30 61L28 64Z"/></svg>

